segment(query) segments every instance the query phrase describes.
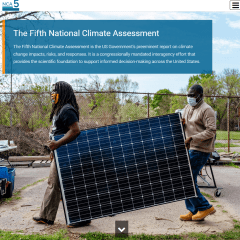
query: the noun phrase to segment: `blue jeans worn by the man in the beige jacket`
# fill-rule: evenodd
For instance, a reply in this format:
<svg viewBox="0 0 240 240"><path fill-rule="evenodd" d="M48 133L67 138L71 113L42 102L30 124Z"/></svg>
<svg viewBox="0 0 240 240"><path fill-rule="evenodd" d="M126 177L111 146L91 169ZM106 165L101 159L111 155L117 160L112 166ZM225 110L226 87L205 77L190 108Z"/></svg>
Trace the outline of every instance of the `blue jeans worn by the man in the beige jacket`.
<svg viewBox="0 0 240 240"><path fill-rule="evenodd" d="M186 208L192 213L196 214L198 211L204 211L212 207L208 200L200 193L197 185L197 176L203 166L206 164L210 153L200 152L196 150L189 150L189 157L193 173L193 180L196 185L196 198L189 198L185 200Z"/></svg>

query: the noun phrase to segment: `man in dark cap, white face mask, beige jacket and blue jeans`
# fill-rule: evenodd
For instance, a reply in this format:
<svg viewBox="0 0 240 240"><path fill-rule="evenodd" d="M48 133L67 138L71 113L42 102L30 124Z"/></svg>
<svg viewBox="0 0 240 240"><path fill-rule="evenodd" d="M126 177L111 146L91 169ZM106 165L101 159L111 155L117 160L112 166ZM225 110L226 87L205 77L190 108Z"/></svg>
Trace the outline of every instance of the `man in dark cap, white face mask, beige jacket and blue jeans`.
<svg viewBox="0 0 240 240"><path fill-rule="evenodd" d="M187 97L188 105L184 108L183 123L186 135L185 144L196 185L197 198L185 200L189 213L180 215L182 221L200 221L216 212L207 199L200 193L197 176L206 164L210 153L214 151L216 119L214 110L203 100L203 88L198 84L190 87Z"/></svg>

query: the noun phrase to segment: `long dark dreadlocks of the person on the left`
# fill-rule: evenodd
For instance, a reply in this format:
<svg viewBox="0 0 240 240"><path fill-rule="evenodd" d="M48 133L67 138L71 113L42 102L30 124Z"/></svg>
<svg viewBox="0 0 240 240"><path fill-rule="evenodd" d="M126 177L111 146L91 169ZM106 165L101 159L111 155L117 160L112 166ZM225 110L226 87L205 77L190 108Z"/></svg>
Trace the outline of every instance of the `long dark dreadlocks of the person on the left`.
<svg viewBox="0 0 240 240"><path fill-rule="evenodd" d="M75 94L73 92L72 86L64 81L56 82L53 84L55 86L54 90L59 94L59 99L57 104L54 104L52 108L52 112L50 114L50 122L53 119L55 114L58 114L60 109L66 105L67 103L71 104L75 110L77 111L77 115L79 118L79 106L76 101Z"/></svg>

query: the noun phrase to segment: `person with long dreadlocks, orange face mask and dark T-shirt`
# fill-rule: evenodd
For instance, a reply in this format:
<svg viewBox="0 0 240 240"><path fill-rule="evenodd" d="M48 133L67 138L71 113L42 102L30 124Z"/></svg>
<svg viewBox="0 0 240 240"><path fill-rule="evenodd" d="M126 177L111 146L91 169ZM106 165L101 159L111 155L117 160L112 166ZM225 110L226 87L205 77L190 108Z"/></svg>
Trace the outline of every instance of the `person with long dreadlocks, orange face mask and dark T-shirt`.
<svg viewBox="0 0 240 240"><path fill-rule="evenodd" d="M52 121L50 136L63 135L58 141L49 140L48 147L51 151L65 145L80 134L79 127L79 107L74 95L72 86L66 82L60 81L53 85L51 94L52 112L50 121ZM59 202L61 199L60 186L56 163L53 158L53 152L50 154L52 160L50 174L48 178L48 186L42 201L39 217L33 217L38 223L48 225L54 224L57 215ZM87 226L91 221L83 221L80 223L68 225L68 227Z"/></svg>

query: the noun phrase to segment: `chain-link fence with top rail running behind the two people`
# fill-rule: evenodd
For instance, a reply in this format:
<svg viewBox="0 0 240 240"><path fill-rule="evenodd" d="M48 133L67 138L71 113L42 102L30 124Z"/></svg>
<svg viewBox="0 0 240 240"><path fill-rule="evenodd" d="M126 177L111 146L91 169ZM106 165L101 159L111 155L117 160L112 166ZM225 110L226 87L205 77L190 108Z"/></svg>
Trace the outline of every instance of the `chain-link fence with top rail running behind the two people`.
<svg viewBox="0 0 240 240"><path fill-rule="evenodd" d="M136 92L75 92L81 129L96 128L174 113L187 104L185 95ZM240 97L206 96L216 111L218 152L240 153ZM52 109L50 93L1 93L0 139L13 140L17 155L47 154Z"/></svg>

